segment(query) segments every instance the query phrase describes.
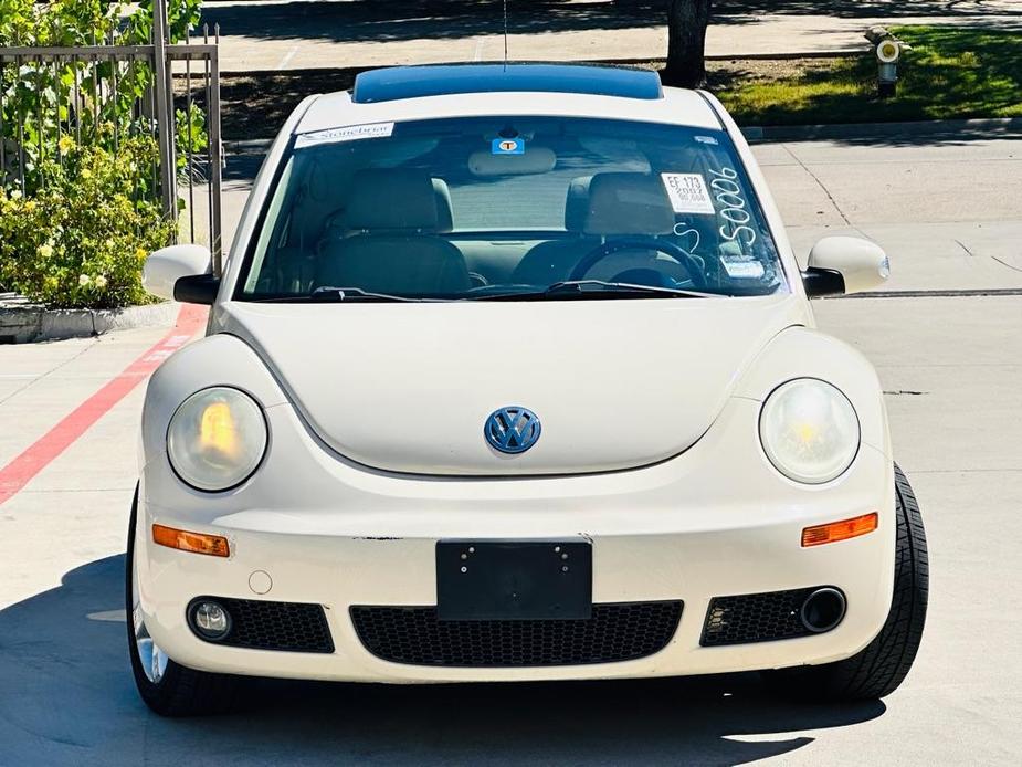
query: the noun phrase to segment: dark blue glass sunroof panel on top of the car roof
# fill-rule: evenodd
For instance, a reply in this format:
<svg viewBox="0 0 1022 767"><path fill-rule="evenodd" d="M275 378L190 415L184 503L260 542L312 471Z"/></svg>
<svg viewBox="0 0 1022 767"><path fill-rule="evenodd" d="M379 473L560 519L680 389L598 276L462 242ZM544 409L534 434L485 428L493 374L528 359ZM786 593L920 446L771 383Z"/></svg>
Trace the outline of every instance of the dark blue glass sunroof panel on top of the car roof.
<svg viewBox="0 0 1022 767"><path fill-rule="evenodd" d="M578 64L442 64L393 66L355 78L356 104L421 96L491 92L582 93L621 98L663 98L660 76L647 70Z"/></svg>

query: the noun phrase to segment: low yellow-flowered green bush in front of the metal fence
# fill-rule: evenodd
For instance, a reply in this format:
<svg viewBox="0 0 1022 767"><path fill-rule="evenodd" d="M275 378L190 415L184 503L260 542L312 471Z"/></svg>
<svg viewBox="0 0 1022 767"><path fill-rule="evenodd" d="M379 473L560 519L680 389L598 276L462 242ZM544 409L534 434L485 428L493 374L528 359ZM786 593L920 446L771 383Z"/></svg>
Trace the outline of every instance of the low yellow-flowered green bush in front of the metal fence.
<svg viewBox="0 0 1022 767"><path fill-rule="evenodd" d="M56 308L147 303L143 262L175 231L141 181L151 178L155 143L124 140L116 161L70 137L61 149L33 196L0 190L0 284Z"/></svg>

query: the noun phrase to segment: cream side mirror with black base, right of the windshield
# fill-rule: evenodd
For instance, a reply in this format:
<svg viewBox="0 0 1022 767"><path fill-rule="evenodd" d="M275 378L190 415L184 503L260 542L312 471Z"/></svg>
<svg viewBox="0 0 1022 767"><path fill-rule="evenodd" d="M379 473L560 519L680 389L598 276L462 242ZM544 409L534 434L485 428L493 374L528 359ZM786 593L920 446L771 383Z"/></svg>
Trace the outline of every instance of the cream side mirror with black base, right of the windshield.
<svg viewBox="0 0 1022 767"><path fill-rule="evenodd" d="M809 252L802 284L805 295L818 298L879 287L889 274L887 254L875 242L857 237L825 237Z"/></svg>

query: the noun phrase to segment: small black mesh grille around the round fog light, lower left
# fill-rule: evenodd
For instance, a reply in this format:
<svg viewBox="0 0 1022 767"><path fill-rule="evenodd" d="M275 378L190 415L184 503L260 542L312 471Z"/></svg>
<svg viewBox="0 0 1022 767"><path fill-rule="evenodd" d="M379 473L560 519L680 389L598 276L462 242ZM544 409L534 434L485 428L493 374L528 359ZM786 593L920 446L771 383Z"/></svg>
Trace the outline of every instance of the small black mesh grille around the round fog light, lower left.
<svg viewBox="0 0 1022 767"><path fill-rule="evenodd" d="M230 632L217 640L217 644L282 652L334 652L334 640L320 605L222 597L200 597L191 603L202 600L218 602L231 617ZM192 633L202 641L211 641L194 628Z"/></svg>

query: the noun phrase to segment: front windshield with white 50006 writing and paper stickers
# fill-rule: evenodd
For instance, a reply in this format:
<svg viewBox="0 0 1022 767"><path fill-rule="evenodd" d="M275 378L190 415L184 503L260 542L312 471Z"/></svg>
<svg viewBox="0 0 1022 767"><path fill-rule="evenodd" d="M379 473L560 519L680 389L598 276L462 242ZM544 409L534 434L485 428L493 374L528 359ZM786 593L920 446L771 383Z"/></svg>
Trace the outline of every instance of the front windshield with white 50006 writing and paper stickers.
<svg viewBox="0 0 1022 767"><path fill-rule="evenodd" d="M515 301L784 288L724 132L509 116L297 136L236 297Z"/></svg>

